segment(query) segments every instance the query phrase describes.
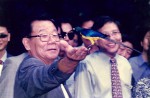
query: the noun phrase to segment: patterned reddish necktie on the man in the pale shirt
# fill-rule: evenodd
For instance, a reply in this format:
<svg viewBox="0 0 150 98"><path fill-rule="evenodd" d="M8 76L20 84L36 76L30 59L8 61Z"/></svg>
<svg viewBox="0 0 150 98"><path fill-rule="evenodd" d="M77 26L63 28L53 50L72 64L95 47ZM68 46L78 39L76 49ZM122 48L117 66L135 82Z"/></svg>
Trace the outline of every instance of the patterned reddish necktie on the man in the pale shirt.
<svg viewBox="0 0 150 98"><path fill-rule="evenodd" d="M116 59L112 58L111 63L111 82L112 82L112 97L123 98L119 72L116 64Z"/></svg>

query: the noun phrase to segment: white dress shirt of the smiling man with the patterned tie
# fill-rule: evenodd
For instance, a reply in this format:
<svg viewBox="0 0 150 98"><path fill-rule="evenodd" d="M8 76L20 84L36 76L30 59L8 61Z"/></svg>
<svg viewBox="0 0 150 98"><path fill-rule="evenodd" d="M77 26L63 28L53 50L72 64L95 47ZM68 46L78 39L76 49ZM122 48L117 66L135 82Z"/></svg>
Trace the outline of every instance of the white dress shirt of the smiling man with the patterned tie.
<svg viewBox="0 0 150 98"><path fill-rule="evenodd" d="M123 98L131 98L132 69L127 59L115 56ZM112 98L110 57L102 52L90 54L75 72L74 98Z"/></svg>

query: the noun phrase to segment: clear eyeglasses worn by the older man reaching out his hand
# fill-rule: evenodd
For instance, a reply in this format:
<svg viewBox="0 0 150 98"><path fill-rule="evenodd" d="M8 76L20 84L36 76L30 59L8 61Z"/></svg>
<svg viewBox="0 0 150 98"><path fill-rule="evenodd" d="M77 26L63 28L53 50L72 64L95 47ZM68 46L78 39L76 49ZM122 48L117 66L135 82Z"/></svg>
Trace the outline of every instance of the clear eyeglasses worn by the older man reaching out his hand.
<svg viewBox="0 0 150 98"><path fill-rule="evenodd" d="M40 35L29 35L27 38L32 38L32 37L40 37L40 40L42 42L48 42L49 38L53 38L55 41L59 41L59 35L58 34L40 34Z"/></svg>

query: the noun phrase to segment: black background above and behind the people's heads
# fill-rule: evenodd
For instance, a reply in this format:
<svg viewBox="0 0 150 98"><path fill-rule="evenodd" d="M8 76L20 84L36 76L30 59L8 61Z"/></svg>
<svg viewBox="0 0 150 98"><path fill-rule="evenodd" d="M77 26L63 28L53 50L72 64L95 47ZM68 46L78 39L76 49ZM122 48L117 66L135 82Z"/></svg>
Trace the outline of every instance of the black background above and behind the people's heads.
<svg viewBox="0 0 150 98"><path fill-rule="evenodd" d="M8 52L18 55L25 51L21 25L33 12L48 12L56 19L69 17L75 24L84 16L109 15L121 22L123 33L136 35L136 26L150 17L149 4L149 0L0 0L0 21L8 24L12 34Z"/></svg>

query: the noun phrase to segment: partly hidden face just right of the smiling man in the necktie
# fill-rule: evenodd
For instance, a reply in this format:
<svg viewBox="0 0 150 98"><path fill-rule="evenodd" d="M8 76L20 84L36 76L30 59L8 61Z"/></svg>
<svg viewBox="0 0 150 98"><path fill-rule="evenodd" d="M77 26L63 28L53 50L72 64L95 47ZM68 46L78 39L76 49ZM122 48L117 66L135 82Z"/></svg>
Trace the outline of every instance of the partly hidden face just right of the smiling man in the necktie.
<svg viewBox="0 0 150 98"><path fill-rule="evenodd" d="M123 42L122 44L130 47L130 48L133 48L133 45L132 43L128 42L128 41L125 41ZM118 49L118 54L124 56L126 59L129 59L131 57L131 54L133 52L133 50L131 50L130 48L127 48L127 47L124 47L124 46L120 46L120 48Z"/></svg>

